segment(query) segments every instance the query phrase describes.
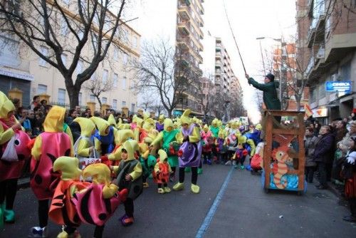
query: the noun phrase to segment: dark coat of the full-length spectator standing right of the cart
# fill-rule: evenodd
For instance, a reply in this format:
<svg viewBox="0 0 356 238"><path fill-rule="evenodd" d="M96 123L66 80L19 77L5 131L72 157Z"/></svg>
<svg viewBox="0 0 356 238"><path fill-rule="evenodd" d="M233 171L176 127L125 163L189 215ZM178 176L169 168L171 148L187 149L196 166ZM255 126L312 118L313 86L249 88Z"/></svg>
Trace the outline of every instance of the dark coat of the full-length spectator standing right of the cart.
<svg viewBox="0 0 356 238"><path fill-rule="evenodd" d="M315 162L333 162L334 156L334 136L332 133L326 133L321 136L315 145L313 161Z"/></svg>

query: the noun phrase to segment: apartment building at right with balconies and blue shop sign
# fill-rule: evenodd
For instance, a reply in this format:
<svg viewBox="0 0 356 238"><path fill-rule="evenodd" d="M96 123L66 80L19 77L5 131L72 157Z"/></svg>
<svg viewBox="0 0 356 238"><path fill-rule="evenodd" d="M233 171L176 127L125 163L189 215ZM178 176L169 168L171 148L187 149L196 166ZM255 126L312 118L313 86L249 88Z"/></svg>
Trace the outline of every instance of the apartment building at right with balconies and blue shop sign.
<svg viewBox="0 0 356 238"><path fill-rule="evenodd" d="M297 1L298 58L305 62L310 108L322 123L345 118L356 108L355 1ZM351 82L350 90L326 91L326 85Z"/></svg>

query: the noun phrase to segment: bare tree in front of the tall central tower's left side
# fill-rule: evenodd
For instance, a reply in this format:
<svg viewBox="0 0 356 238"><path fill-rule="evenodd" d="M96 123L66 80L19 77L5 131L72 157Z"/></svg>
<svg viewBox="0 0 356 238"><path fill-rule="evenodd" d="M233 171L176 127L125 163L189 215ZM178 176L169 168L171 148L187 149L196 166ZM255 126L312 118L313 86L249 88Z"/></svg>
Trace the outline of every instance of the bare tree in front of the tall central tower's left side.
<svg viewBox="0 0 356 238"><path fill-rule="evenodd" d="M152 95L158 95L169 117L197 78L185 57L179 48L174 53L168 41L160 39L157 43L144 43L141 61L132 63L137 75L135 88L140 92L150 90Z"/></svg>

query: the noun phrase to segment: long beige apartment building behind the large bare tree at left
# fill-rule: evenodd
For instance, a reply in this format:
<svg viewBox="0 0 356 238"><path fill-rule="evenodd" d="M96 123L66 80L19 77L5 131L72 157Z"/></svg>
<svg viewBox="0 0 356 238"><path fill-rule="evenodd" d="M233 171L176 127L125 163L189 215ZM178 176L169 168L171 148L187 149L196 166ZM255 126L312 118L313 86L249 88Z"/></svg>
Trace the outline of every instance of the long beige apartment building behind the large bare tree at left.
<svg viewBox="0 0 356 238"><path fill-rule="evenodd" d="M71 20L78 21L78 19L75 19L75 16L69 14L77 6L77 1L63 0L62 4L64 6L63 9L68 11L68 17L73 17ZM107 14L108 16L105 17L115 21L115 14L110 11ZM98 27L95 26L95 21L93 22L93 28ZM56 35L58 35L58 39L66 41L66 44L73 44L72 48L75 48L75 43L78 42L66 39L68 27L66 27L65 22L57 29L58 33ZM31 103L33 95L43 94L50 96L48 103L63 105L69 108L65 81L58 69L38 57L26 44L21 43L14 36L1 34L0 45L0 88L2 91L7 93L13 88L22 90L22 104L25 107ZM90 56L93 53L92 47L94 46L91 43L87 43L83 48L81 56L83 58ZM50 53L49 48L41 46L41 53L48 55ZM72 54L63 53L63 63L67 64L67 62L70 62L71 57L73 57ZM135 112L137 110L137 96L130 89L135 83L134 75L127 68L130 62L138 61L139 58L140 34L135 29L121 22L120 31L112 39L107 56L99 64L90 80L83 83L78 98L79 104L84 108L88 102L95 102L95 109L100 110L98 100L89 90L85 89L85 86L88 86L90 81L100 81L99 83L103 84L110 81L110 90L100 94L101 103L107 104L114 110L121 110L122 107L125 107ZM75 80L76 74L82 73L87 66L88 63L84 60L78 61L73 80Z"/></svg>

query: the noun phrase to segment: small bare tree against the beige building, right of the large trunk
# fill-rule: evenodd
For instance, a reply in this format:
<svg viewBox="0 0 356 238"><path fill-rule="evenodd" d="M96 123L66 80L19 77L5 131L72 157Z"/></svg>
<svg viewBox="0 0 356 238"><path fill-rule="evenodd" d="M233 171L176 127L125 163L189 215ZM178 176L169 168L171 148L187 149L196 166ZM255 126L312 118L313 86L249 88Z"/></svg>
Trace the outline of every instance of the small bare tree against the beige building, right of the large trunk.
<svg viewBox="0 0 356 238"><path fill-rule="evenodd" d="M88 90L95 98L98 99L100 110L102 108L102 102L100 100L101 93L108 92L112 90L112 86L114 85L112 80L96 78L95 75L90 79L90 81L86 81L83 84L83 88Z"/></svg>

